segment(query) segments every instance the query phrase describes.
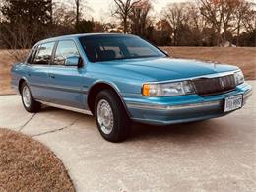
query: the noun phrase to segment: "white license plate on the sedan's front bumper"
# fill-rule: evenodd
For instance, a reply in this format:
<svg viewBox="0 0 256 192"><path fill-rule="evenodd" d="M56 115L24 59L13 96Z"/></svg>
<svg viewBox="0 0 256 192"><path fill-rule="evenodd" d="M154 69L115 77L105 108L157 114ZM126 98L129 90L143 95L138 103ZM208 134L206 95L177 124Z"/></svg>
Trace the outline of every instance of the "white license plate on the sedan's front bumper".
<svg viewBox="0 0 256 192"><path fill-rule="evenodd" d="M243 96L230 96L224 99L224 112L230 112L242 107Z"/></svg>

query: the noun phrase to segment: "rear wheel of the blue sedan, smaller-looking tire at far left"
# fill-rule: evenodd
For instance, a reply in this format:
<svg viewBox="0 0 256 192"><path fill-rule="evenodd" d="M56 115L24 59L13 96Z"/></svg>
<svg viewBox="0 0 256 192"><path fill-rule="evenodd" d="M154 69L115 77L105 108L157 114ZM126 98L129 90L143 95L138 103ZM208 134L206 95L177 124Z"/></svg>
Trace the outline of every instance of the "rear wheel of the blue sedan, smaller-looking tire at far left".
<svg viewBox="0 0 256 192"><path fill-rule="evenodd" d="M41 103L34 100L31 94L31 90L26 82L21 86L21 96L24 108L31 113L37 112L41 108Z"/></svg>

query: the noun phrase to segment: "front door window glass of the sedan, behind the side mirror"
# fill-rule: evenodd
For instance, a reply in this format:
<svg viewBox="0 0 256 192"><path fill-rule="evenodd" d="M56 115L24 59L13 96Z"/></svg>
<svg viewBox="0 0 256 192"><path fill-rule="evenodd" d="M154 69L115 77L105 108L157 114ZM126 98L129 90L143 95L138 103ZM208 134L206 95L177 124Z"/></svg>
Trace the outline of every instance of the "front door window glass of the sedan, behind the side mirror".
<svg viewBox="0 0 256 192"><path fill-rule="evenodd" d="M59 41L53 63L54 65L64 65L65 60L73 56L79 56L75 42L72 40Z"/></svg>

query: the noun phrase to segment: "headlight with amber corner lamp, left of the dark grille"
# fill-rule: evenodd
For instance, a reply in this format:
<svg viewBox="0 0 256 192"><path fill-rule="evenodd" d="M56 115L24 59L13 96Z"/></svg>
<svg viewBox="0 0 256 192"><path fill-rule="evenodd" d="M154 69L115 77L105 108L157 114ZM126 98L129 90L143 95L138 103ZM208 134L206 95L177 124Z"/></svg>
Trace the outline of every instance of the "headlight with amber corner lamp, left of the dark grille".
<svg viewBox="0 0 256 192"><path fill-rule="evenodd" d="M183 96L194 94L195 90L190 81L144 84L142 87L143 96Z"/></svg>

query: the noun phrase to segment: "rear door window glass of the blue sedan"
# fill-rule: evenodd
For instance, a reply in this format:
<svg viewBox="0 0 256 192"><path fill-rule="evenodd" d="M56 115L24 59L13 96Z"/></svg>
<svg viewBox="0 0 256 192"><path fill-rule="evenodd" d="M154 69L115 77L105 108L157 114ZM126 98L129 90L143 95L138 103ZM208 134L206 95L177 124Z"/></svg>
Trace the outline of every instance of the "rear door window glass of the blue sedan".
<svg viewBox="0 0 256 192"><path fill-rule="evenodd" d="M49 42L39 45L37 47L32 64L48 65L51 60L51 54L54 44L55 42Z"/></svg>

